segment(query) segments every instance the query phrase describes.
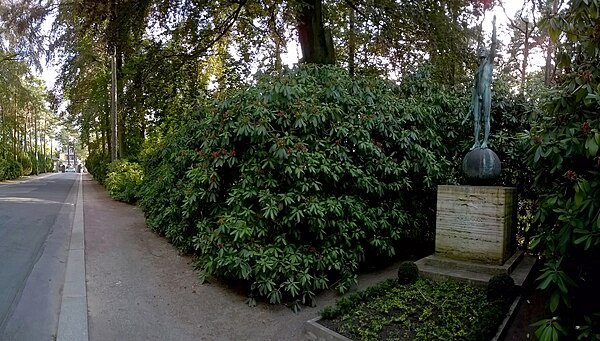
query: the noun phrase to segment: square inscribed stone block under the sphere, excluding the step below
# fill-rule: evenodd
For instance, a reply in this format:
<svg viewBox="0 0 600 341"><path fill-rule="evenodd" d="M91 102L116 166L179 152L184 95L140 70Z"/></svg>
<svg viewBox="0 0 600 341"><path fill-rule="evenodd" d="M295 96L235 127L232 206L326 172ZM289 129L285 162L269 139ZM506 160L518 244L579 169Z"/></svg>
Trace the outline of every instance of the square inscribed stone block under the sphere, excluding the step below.
<svg viewBox="0 0 600 341"><path fill-rule="evenodd" d="M514 251L517 190L439 186L435 255L502 265Z"/></svg>

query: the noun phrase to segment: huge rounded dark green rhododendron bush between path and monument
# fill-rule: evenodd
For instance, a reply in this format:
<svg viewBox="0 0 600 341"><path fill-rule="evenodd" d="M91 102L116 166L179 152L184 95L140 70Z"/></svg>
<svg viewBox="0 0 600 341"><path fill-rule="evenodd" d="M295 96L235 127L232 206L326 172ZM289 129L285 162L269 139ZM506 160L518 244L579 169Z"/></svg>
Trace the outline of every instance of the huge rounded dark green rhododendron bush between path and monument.
<svg viewBox="0 0 600 341"><path fill-rule="evenodd" d="M431 217L410 212L448 170L431 128L439 109L401 96L313 66L201 108L148 144L149 225L195 250L205 274L271 302L346 291L367 257L432 234Z"/></svg>

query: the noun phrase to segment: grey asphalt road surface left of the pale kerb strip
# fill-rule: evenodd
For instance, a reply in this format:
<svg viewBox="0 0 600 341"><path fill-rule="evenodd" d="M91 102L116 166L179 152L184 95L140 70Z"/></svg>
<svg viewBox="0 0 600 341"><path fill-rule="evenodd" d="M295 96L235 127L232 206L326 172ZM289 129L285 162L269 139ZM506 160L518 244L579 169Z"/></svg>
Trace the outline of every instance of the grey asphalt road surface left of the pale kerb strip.
<svg viewBox="0 0 600 341"><path fill-rule="evenodd" d="M54 340L77 173L0 183L0 340Z"/></svg>

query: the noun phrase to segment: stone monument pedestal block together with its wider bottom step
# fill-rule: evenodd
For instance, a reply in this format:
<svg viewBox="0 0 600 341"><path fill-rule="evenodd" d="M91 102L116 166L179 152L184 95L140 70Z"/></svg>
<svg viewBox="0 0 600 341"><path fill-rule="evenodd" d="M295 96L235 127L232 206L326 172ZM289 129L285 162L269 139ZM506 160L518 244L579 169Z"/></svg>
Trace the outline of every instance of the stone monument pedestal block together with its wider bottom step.
<svg viewBox="0 0 600 341"><path fill-rule="evenodd" d="M418 260L424 277L486 285L506 273L523 285L537 258L515 250L517 191L497 186L439 186L435 254Z"/></svg>

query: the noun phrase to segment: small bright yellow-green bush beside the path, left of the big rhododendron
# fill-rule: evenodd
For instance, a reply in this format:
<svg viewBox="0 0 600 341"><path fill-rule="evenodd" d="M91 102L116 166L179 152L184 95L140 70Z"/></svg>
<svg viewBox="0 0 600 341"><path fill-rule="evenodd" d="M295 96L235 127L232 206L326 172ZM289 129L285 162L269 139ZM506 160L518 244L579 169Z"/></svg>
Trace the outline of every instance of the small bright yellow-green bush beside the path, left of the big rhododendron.
<svg viewBox="0 0 600 341"><path fill-rule="evenodd" d="M113 199L134 203L139 198L139 188L143 178L139 164L117 160L108 165L105 186Z"/></svg>

